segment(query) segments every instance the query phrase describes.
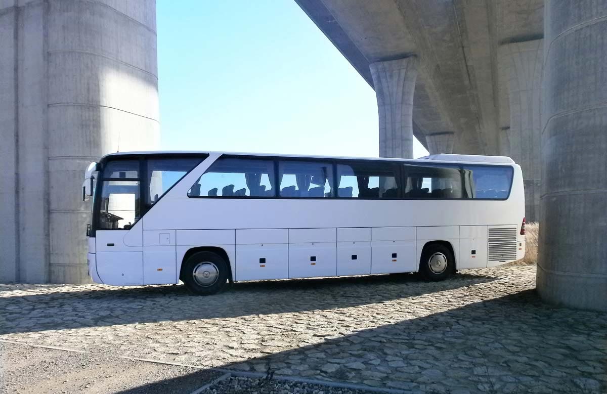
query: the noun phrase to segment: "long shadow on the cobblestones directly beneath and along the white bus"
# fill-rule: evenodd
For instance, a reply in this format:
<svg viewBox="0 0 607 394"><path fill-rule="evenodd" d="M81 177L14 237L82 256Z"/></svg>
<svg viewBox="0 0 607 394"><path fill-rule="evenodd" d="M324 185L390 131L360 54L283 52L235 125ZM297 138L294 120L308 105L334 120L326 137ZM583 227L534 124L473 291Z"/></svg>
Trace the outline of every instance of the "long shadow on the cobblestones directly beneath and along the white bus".
<svg viewBox="0 0 607 394"><path fill-rule="evenodd" d="M235 318L327 310L406 299L497 278L460 273L426 283L416 274L237 283L220 294L193 296L183 286L52 288L0 297L0 335L144 322ZM77 288L77 287L76 287ZM305 300L305 301L302 301Z"/></svg>

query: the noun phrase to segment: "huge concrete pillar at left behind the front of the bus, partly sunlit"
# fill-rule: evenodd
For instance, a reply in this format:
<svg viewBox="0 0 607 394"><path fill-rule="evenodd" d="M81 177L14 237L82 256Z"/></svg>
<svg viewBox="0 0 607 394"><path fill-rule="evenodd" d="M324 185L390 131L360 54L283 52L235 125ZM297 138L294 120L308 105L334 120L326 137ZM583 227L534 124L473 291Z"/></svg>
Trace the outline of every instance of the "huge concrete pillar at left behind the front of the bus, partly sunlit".
<svg viewBox="0 0 607 394"><path fill-rule="evenodd" d="M0 2L0 282L86 282L87 163L159 144L154 0Z"/></svg>

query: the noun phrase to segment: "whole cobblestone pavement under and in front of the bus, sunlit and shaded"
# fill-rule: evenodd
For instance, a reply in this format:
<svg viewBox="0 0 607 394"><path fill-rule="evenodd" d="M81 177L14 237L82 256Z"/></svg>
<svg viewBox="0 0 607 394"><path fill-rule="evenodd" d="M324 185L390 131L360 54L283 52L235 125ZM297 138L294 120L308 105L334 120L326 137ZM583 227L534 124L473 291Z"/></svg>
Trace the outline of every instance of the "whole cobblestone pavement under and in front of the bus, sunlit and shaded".
<svg viewBox="0 0 607 394"><path fill-rule="evenodd" d="M0 285L0 339L412 392L605 393L607 314L535 267L181 287Z"/></svg>

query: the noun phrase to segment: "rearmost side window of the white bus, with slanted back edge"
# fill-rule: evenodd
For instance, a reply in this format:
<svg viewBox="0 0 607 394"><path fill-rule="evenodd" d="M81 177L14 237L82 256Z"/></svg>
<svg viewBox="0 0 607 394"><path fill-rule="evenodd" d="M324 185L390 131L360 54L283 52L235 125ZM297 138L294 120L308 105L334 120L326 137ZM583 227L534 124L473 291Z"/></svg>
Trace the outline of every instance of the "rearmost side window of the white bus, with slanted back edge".
<svg viewBox="0 0 607 394"><path fill-rule="evenodd" d="M464 187L472 199L507 199L512 186L512 167L464 166Z"/></svg>

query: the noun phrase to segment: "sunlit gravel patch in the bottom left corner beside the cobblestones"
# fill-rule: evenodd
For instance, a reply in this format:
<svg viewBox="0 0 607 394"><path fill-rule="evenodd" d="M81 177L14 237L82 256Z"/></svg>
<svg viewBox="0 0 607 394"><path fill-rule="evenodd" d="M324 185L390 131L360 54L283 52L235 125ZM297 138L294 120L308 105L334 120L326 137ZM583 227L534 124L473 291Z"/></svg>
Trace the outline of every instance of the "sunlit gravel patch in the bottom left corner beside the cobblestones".
<svg viewBox="0 0 607 394"><path fill-rule="evenodd" d="M0 392L7 394L187 394L220 375L111 355L0 343Z"/></svg>

